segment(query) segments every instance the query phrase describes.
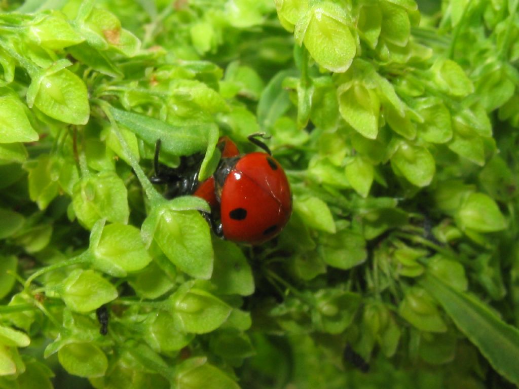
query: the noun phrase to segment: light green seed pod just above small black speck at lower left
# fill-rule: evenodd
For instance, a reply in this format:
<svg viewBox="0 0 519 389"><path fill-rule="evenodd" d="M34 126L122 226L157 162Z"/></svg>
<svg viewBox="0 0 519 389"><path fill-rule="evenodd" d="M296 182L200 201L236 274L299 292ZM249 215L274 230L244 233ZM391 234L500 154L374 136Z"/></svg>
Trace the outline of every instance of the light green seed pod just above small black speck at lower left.
<svg viewBox="0 0 519 389"><path fill-rule="evenodd" d="M117 289L93 270L76 269L58 286L66 306L90 312L117 298Z"/></svg>

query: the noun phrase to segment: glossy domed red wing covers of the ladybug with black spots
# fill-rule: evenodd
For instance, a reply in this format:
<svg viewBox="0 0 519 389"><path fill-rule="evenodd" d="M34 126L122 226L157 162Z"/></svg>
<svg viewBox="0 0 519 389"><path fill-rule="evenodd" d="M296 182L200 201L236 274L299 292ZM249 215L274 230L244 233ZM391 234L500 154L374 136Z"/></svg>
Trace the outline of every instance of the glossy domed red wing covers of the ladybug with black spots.
<svg viewBox="0 0 519 389"><path fill-rule="evenodd" d="M264 152L240 158L225 178L220 213L228 240L260 244L275 237L292 213L290 185L279 163Z"/></svg>

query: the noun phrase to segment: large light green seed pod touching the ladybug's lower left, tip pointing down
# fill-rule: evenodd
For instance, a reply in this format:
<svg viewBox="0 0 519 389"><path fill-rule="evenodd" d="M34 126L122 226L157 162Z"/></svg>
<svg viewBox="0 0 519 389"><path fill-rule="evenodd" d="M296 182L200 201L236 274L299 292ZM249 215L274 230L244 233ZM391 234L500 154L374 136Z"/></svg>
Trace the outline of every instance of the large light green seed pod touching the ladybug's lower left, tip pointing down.
<svg viewBox="0 0 519 389"><path fill-rule="evenodd" d="M155 239L162 252L180 270L198 279L208 280L213 271L213 249L206 220L198 211L176 211L169 203L144 221L145 242Z"/></svg>

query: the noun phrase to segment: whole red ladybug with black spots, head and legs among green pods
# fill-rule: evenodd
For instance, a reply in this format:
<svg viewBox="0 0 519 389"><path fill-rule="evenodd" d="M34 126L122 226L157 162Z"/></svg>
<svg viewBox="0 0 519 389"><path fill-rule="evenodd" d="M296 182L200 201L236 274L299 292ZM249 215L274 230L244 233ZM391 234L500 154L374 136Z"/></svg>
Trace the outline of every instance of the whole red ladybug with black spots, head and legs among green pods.
<svg viewBox="0 0 519 389"><path fill-rule="evenodd" d="M206 200L211 214L204 215L219 237L233 242L261 244L278 235L292 213L290 185L283 168L269 148L253 134L249 140L265 152L240 154L227 136L218 141L222 158L211 177L202 183L198 171L202 154L181 157L178 168L158 162L155 149L154 184L167 184L165 196L193 195Z"/></svg>

